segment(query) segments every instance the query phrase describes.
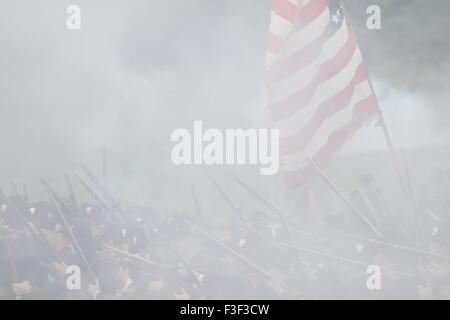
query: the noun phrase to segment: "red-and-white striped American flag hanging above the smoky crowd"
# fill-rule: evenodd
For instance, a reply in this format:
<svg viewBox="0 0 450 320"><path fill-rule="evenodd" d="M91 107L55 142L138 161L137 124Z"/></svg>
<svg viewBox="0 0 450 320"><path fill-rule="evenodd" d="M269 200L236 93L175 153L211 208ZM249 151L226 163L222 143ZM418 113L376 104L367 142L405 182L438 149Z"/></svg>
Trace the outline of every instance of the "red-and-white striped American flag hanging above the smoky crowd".
<svg viewBox="0 0 450 320"><path fill-rule="evenodd" d="M272 0L266 68L289 187L311 182L377 104L339 0Z"/></svg>

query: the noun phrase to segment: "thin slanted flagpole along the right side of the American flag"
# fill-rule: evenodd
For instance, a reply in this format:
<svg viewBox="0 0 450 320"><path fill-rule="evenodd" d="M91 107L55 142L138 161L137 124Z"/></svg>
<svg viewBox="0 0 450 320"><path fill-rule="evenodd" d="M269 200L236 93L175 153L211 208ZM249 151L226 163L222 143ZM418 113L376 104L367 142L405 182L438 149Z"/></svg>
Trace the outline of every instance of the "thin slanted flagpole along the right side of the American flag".
<svg viewBox="0 0 450 320"><path fill-rule="evenodd" d="M351 26L351 23L350 23L350 19L349 19L349 16L348 16L348 12L347 12L347 8L345 6L345 3L344 3L343 0L339 0L339 2L341 3L341 6L342 6L342 11L344 13L344 17L345 17L345 20L346 20L346 23L347 23L347 27L348 27L349 31L353 33L352 26ZM380 123L381 127L383 128L383 134L384 134L384 137L386 139L386 143L388 145L389 151L391 153L392 162L394 163L395 174L397 175L397 178L398 178L398 180L400 182L400 186L401 186L401 189L402 189L402 192L403 192L403 196L409 202L407 188L406 188L405 180L404 180L404 177L403 177L403 174L402 174L402 169L401 169L402 167L401 167L400 162L398 160L398 156L397 156L397 152L396 152L396 150L394 148L394 144L392 143L391 134L390 134L389 129L388 129L387 125L386 125L386 121L384 119L383 110L381 110L380 104L378 103L378 98L377 98L377 96L375 94L375 90L373 88L372 81L371 81L371 79L369 77L369 71L367 70L367 67L366 67L365 64L363 64L363 66L364 66L364 70L365 70L366 75L367 75L367 81L369 83L370 90L372 90L373 96L375 98L375 104L376 104L376 108L377 108L379 123Z"/></svg>

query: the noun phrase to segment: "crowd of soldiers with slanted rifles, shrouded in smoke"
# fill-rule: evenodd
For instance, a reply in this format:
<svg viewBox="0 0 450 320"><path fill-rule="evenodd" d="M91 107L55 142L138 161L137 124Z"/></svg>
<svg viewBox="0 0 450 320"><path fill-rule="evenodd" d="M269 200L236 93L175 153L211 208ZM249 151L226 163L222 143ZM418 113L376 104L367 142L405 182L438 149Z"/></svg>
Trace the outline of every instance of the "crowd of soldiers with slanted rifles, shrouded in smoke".
<svg viewBox="0 0 450 320"><path fill-rule="evenodd" d="M404 215L372 176L361 178L351 201L382 238L351 209L318 221L268 204L219 222L198 203L184 215L123 208L84 174L92 203L79 203L70 181L69 197L43 181L42 202L0 192L0 299L450 298L449 170Z"/></svg>

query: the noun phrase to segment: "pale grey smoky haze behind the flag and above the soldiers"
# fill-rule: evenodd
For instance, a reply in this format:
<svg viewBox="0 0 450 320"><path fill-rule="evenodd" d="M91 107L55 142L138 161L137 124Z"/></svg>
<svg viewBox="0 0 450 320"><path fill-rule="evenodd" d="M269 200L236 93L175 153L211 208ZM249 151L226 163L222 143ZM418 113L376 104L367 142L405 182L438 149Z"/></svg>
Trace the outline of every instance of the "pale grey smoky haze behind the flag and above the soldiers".
<svg viewBox="0 0 450 320"><path fill-rule="evenodd" d="M101 174L106 147L108 184L122 201L182 203L202 178L171 164L170 133L193 120L262 123L270 2L2 0L0 186L27 183L40 197L41 177L60 186L80 161ZM450 2L345 2L394 142L408 148L419 183L449 163ZM66 28L70 4L81 7L79 31ZM381 7L382 30L366 28L370 4ZM365 171L395 184L384 150L380 129L361 132L330 173L345 188ZM248 171L253 184L270 185Z"/></svg>

